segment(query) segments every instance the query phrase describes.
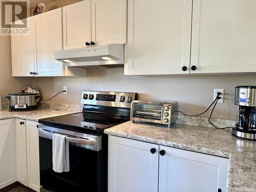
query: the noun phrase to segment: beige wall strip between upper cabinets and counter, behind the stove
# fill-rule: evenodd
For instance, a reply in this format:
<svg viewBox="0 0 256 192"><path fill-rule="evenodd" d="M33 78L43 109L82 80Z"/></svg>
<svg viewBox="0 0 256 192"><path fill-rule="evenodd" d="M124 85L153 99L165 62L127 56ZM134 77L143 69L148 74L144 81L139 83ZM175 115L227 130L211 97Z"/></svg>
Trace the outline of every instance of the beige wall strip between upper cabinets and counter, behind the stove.
<svg viewBox="0 0 256 192"><path fill-rule="evenodd" d="M122 68L117 68L88 70L88 76L82 78L33 78L33 86L40 90L44 100L61 91L63 86L68 86L68 95L61 94L52 101L80 103L83 90L137 92L139 99L178 101L179 110L187 114L204 111L214 100L214 89L223 88L224 103L216 105L212 117L226 119L236 119L238 106L233 103L234 87L238 85L256 85L256 75L126 76Z"/></svg>

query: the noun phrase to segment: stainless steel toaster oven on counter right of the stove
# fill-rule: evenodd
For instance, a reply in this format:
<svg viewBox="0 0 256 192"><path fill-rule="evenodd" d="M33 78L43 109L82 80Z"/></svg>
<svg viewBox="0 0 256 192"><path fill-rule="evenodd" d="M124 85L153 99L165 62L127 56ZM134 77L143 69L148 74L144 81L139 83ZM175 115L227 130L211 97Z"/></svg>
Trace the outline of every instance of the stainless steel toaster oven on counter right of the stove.
<svg viewBox="0 0 256 192"><path fill-rule="evenodd" d="M166 124L170 127L177 120L177 102L135 100L132 102L131 120Z"/></svg>

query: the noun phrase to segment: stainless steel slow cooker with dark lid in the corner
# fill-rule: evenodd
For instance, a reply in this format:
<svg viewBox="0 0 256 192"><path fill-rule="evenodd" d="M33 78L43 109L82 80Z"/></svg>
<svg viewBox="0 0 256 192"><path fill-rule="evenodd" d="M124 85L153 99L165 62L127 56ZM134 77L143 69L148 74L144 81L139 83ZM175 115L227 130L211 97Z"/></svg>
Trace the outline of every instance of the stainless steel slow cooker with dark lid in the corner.
<svg viewBox="0 0 256 192"><path fill-rule="evenodd" d="M22 90L21 93L9 93L6 98L10 100L10 111L28 111L37 109L40 96Z"/></svg>

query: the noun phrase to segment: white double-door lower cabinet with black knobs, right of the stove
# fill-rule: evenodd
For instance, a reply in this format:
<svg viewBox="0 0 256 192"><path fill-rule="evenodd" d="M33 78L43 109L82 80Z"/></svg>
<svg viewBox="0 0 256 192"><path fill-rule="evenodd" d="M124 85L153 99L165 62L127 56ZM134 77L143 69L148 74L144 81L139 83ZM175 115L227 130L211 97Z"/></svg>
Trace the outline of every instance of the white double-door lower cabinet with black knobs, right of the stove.
<svg viewBox="0 0 256 192"><path fill-rule="evenodd" d="M227 173L226 158L109 136L109 192L226 191Z"/></svg>

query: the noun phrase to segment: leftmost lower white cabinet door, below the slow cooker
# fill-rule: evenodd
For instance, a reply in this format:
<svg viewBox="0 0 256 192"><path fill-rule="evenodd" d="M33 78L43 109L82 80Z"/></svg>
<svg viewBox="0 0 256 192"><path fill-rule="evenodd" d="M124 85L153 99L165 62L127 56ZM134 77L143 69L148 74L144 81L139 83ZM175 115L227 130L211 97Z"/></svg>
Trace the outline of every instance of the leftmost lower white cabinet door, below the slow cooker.
<svg viewBox="0 0 256 192"><path fill-rule="evenodd" d="M17 181L15 124L0 120L0 188Z"/></svg>

